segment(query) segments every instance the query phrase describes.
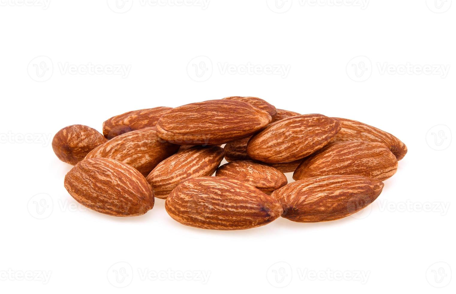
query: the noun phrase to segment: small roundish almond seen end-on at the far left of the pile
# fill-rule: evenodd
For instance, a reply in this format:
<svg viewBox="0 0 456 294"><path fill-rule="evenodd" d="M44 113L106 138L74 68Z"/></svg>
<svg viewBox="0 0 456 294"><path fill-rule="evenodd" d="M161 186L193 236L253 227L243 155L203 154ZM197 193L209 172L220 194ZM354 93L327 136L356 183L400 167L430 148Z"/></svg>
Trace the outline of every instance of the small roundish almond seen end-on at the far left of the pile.
<svg viewBox="0 0 456 294"><path fill-rule="evenodd" d="M89 126L66 126L52 139L52 149L58 159L75 165L88 152L107 141L101 133Z"/></svg>

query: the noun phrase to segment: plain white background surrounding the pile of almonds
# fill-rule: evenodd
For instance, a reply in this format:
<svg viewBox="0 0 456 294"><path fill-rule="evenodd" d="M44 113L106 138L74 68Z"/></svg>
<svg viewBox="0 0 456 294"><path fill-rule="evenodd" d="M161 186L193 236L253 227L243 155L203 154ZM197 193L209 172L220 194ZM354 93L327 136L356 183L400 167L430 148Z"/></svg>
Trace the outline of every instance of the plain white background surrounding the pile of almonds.
<svg viewBox="0 0 456 294"><path fill-rule="evenodd" d="M455 3L118 3L0 0L2 293L455 293ZM205 231L161 199L115 218L64 189L62 127L231 95L363 121L409 153L373 205L326 223Z"/></svg>

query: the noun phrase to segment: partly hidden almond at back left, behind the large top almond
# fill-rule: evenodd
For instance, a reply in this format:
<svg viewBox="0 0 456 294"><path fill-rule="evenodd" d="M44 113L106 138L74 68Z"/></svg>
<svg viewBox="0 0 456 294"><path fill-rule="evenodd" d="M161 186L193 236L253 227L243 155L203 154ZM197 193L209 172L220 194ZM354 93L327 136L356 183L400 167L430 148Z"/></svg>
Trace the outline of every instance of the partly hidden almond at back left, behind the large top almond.
<svg viewBox="0 0 456 294"><path fill-rule="evenodd" d="M171 107L160 106L133 110L113 116L103 123L103 135L108 139L112 139L129 131L155 126L161 115L171 109Z"/></svg>

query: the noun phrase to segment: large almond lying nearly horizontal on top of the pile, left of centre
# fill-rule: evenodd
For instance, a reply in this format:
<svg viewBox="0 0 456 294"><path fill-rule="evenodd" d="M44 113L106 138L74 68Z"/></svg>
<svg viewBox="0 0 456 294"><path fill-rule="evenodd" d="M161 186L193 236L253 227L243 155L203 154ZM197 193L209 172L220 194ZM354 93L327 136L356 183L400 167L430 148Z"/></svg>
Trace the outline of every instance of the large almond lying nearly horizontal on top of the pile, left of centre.
<svg viewBox="0 0 456 294"><path fill-rule="evenodd" d="M236 100L209 100L173 108L157 123L162 139L182 145L219 145L248 137L272 120L264 110Z"/></svg>

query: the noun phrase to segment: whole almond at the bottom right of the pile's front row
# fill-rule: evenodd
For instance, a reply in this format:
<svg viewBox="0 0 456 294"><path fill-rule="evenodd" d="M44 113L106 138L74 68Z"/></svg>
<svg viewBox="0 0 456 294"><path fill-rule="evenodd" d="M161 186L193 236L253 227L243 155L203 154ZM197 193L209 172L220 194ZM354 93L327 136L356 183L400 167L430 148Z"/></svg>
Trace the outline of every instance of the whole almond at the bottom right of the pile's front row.
<svg viewBox="0 0 456 294"><path fill-rule="evenodd" d="M306 178L275 190L282 217L296 222L338 220L370 205L382 193L383 183L373 178L330 175Z"/></svg>

